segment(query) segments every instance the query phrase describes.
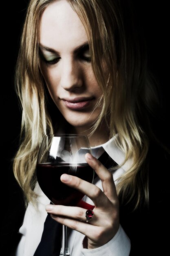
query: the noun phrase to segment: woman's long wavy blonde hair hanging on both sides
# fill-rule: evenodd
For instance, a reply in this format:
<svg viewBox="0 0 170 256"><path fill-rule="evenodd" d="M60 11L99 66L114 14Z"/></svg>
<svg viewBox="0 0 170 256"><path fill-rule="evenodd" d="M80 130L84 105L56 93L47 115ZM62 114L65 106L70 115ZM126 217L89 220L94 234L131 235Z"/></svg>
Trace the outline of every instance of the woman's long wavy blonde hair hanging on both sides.
<svg viewBox="0 0 170 256"><path fill-rule="evenodd" d="M103 91L102 112L93 131L105 118L110 137L118 135L117 145L125 153L125 162L132 158L133 164L119 180L117 192L129 201L136 198L137 207L141 201L148 202L148 169L145 165L149 145L147 112L152 111L151 101L157 102L157 97L147 73L146 57L141 55L130 20L132 13L127 14L130 9L126 11L128 17L126 15L124 20L122 13L126 7L122 10L124 5L118 0L67 1L84 24L93 71ZM42 12L52 2L55 0L30 1L16 68L22 128L13 169L27 202L36 197L33 192L35 165L42 136L53 133L38 62L39 22ZM103 65L107 67L105 73ZM146 117L146 125L142 115Z"/></svg>

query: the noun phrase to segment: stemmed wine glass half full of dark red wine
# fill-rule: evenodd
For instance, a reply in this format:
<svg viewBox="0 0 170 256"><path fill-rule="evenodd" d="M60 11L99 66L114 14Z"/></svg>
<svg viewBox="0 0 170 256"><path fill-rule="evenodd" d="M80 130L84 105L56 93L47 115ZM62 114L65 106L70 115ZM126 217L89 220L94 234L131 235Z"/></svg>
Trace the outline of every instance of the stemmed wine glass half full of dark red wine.
<svg viewBox="0 0 170 256"><path fill-rule="evenodd" d="M87 164L85 154L91 153L86 135L44 135L40 146L36 173L44 194L53 204L76 206L84 194L63 184L63 173L93 182L94 170ZM67 227L63 225L60 256L69 256Z"/></svg>

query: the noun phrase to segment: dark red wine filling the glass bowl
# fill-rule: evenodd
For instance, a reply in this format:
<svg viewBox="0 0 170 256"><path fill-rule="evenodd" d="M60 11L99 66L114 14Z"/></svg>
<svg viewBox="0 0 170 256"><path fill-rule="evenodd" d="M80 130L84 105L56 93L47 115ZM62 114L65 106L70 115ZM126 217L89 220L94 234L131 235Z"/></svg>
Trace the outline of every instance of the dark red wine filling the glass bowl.
<svg viewBox="0 0 170 256"><path fill-rule="evenodd" d="M84 194L73 189L60 180L63 173L77 176L90 183L93 182L94 171L88 164L72 166L70 164L38 164L37 179L44 194L54 204L75 206L84 197Z"/></svg>

